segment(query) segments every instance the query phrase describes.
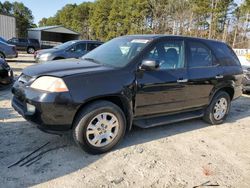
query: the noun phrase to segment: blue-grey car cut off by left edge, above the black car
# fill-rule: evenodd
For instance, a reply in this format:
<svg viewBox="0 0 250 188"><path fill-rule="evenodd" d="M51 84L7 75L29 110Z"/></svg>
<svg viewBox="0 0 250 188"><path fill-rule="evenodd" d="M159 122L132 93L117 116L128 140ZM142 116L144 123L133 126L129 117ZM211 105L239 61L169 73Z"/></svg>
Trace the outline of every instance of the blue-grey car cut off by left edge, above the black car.
<svg viewBox="0 0 250 188"><path fill-rule="evenodd" d="M16 46L0 41L0 58L15 58L18 56Z"/></svg>

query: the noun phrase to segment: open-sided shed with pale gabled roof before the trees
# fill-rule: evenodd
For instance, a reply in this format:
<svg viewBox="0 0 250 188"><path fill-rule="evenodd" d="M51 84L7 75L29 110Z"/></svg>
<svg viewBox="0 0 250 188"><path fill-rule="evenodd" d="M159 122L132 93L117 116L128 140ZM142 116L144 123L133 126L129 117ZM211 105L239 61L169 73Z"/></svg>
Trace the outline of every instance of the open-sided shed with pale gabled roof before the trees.
<svg viewBox="0 0 250 188"><path fill-rule="evenodd" d="M63 26L47 26L28 29L28 38L39 40L42 48L56 46L79 39L80 34Z"/></svg>

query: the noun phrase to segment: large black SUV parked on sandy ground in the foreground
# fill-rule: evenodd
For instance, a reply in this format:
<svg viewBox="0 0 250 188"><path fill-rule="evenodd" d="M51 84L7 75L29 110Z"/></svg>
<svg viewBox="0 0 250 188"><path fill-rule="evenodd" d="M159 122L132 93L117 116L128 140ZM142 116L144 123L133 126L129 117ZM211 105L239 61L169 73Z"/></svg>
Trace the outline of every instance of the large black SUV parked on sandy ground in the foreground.
<svg viewBox="0 0 250 188"><path fill-rule="evenodd" d="M242 94L240 62L225 43L165 35L113 39L82 59L28 67L12 105L47 132L73 130L90 153L113 148L132 125L203 117L222 123Z"/></svg>

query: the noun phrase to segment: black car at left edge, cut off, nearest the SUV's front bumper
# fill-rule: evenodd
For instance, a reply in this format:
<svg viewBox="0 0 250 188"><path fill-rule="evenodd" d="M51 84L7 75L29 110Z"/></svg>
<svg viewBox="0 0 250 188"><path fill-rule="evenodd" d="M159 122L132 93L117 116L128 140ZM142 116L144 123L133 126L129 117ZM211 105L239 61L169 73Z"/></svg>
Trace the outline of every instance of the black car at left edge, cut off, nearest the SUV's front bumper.
<svg viewBox="0 0 250 188"><path fill-rule="evenodd" d="M0 88L13 82L13 71L8 63L0 58Z"/></svg>

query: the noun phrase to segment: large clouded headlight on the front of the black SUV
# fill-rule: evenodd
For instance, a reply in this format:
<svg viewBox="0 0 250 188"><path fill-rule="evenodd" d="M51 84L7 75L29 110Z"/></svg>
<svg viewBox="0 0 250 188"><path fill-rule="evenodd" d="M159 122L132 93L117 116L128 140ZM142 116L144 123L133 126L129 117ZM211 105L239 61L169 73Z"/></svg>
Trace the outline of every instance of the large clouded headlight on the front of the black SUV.
<svg viewBox="0 0 250 188"><path fill-rule="evenodd" d="M67 92L66 84L61 78L52 76L42 76L37 78L30 86L33 89L39 89L48 92Z"/></svg>

